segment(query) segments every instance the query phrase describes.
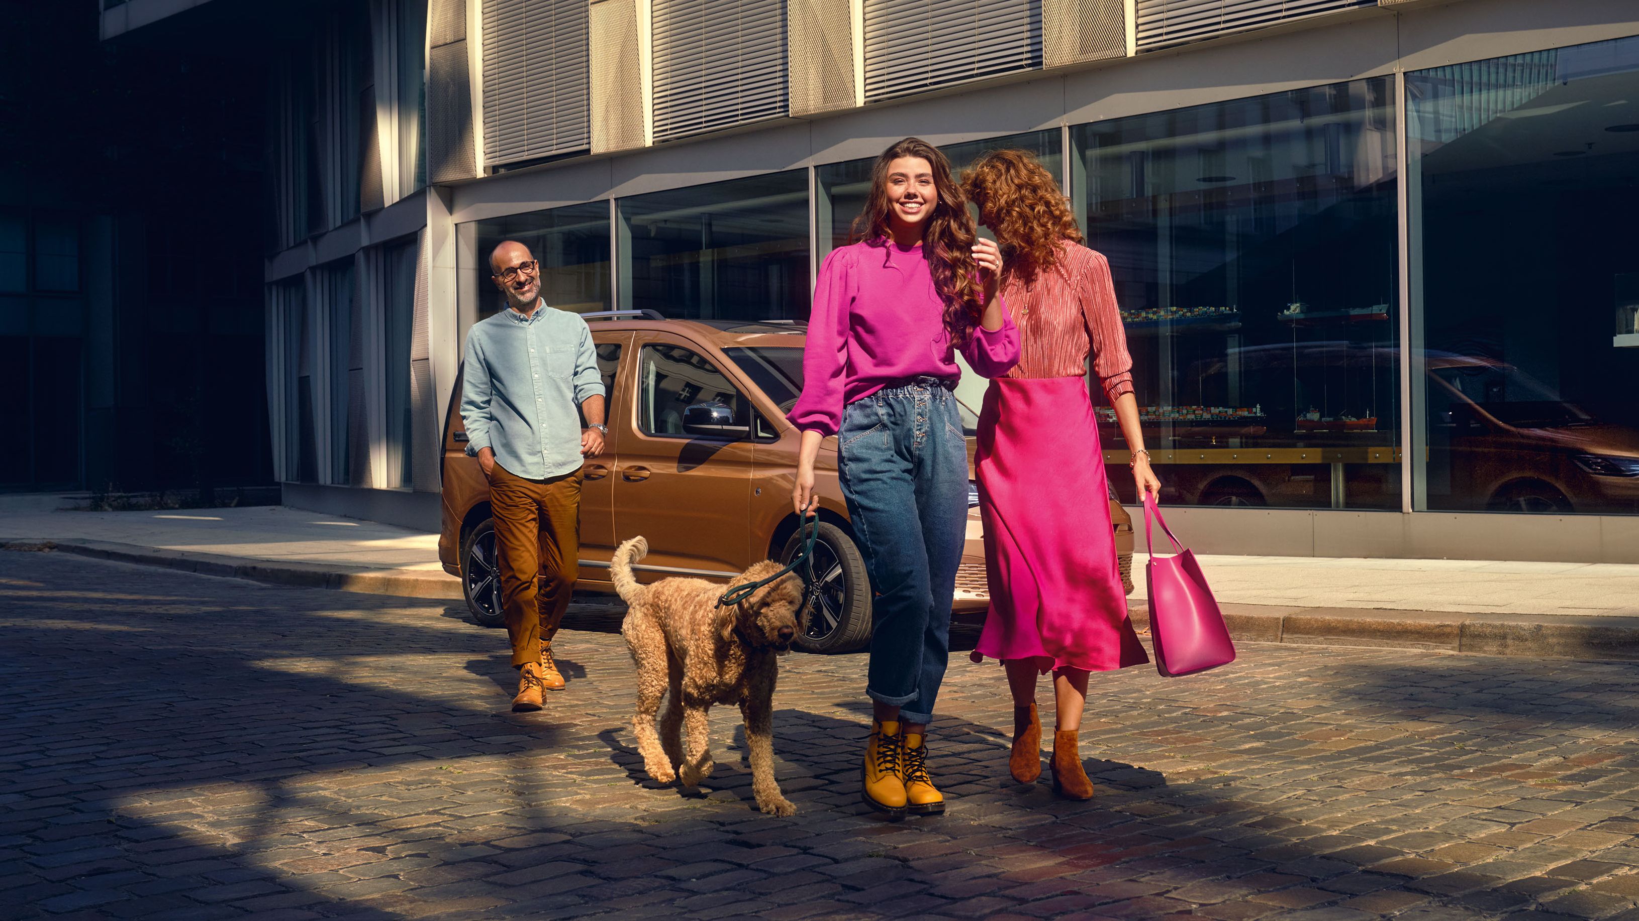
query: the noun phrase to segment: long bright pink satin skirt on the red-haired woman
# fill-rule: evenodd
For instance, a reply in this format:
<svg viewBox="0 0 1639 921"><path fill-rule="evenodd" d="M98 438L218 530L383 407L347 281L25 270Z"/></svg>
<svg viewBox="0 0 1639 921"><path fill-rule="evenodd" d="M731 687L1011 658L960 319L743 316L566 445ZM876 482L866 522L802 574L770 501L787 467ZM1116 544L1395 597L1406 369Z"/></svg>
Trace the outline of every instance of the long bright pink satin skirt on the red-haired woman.
<svg viewBox="0 0 1639 921"><path fill-rule="evenodd" d="M974 464L990 611L972 659L1042 672L1149 662L1128 619L1087 379L992 380Z"/></svg>

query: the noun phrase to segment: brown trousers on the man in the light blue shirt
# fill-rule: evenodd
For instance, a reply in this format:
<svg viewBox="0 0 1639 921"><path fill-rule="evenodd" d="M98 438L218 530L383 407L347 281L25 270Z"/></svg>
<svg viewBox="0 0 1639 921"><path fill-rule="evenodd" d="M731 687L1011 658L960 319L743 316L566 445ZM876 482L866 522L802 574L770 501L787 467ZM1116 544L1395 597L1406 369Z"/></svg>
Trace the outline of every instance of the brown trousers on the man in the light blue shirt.
<svg viewBox="0 0 1639 921"><path fill-rule="evenodd" d="M541 660L541 641L557 634L580 570L580 470L526 480L490 472L495 557L513 667Z"/></svg>

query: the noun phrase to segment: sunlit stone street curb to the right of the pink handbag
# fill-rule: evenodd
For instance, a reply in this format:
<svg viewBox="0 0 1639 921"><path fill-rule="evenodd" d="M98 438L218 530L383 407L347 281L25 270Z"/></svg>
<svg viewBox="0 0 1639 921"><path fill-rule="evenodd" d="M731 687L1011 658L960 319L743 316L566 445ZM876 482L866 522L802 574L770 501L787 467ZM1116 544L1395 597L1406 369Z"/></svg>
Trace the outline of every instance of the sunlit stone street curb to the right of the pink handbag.
<svg viewBox="0 0 1639 921"><path fill-rule="evenodd" d="M1639 618L1626 615L1469 615L1388 608L1219 605L1229 636L1247 642L1375 646L1531 659L1639 660ZM1133 626L1149 606L1133 601Z"/></svg>

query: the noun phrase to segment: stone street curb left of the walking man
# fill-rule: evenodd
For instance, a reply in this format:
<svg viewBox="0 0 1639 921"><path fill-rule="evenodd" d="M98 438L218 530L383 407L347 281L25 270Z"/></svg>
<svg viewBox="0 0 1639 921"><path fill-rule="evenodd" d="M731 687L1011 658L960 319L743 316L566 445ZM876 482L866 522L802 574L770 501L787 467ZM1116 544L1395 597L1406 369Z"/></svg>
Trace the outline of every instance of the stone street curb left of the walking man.
<svg viewBox="0 0 1639 921"><path fill-rule="evenodd" d="M244 557L226 557L220 554L164 551L138 544L84 539L0 539L0 551L59 551L82 557L180 569L184 572L197 572L202 575L249 578L251 582L262 582L267 585L333 588L338 592L393 595L398 598L462 598L461 580L446 572L428 572L421 575L402 569L369 569L320 562L288 564L274 560L246 560Z"/></svg>

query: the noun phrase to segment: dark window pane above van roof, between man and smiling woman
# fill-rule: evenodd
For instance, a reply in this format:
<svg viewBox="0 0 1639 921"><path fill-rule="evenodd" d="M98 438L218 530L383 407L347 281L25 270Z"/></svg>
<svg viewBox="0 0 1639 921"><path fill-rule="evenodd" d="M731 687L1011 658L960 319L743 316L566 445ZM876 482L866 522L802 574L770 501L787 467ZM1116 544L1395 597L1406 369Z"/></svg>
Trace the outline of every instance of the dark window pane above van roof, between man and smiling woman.
<svg viewBox="0 0 1639 921"><path fill-rule="evenodd" d="M808 316L808 174L620 200L621 306L706 320Z"/></svg>

